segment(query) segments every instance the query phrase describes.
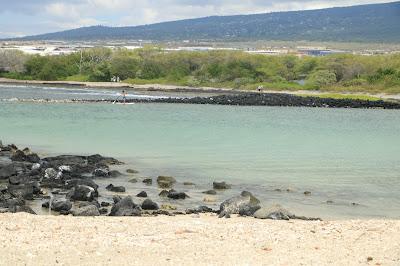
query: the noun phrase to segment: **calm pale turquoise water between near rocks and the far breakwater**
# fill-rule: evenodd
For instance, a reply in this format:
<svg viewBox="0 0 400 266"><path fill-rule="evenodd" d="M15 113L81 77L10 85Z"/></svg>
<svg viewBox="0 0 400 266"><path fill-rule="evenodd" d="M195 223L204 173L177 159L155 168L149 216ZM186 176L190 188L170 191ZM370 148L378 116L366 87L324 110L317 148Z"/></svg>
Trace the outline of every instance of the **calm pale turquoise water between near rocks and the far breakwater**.
<svg viewBox="0 0 400 266"><path fill-rule="evenodd" d="M0 102L0 139L42 154L101 153L142 176L193 181L178 186L193 204L225 180L234 189L211 205L247 189L298 215L400 218L399 111ZM113 183L158 200L154 187Z"/></svg>

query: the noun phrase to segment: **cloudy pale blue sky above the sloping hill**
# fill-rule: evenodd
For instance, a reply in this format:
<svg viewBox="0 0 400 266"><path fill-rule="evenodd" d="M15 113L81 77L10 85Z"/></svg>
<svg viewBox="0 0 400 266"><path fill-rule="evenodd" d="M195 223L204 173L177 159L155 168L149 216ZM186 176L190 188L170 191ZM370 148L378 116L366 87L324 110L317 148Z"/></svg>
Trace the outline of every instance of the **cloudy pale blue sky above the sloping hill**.
<svg viewBox="0 0 400 266"><path fill-rule="evenodd" d="M384 3L390 0L0 0L0 38L83 26L135 26L236 15Z"/></svg>

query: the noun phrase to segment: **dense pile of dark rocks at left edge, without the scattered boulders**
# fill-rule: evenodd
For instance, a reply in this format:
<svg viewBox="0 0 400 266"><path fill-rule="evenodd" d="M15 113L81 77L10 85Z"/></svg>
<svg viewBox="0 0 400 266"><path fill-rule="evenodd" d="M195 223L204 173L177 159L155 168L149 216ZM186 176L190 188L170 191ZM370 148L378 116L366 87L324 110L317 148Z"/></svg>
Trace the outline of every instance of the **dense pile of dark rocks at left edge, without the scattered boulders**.
<svg viewBox="0 0 400 266"><path fill-rule="evenodd" d="M101 155L74 156L61 155L40 158L36 153L15 145L0 145L0 209L2 212L26 211L34 213L27 200L49 198L46 190L53 191L50 200L43 207L68 214L74 202L96 202L99 196L94 179L110 177L110 165L122 164L118 160ZM111 174L110 174L111 173ZM61 193L60 192L64 192ZM65 195L65 196L64 196ZM97 203L97 202L96 202ZM91 206L100 206L91 204ZM89 211L93 207L86 208ZM95 213L85 210L75 211L75 215Z"/></svg>

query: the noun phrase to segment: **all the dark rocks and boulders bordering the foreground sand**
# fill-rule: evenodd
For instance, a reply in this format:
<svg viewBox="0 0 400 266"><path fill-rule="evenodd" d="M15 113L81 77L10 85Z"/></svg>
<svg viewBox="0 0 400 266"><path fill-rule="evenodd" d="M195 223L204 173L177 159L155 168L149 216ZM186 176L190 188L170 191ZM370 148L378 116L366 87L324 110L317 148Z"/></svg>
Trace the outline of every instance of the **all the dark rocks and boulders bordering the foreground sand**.
<svg viewBox="0 0 400 266"><path fill-rule="evenodd" d="M146 191L129 195L125 187L109 184L105 187L112 196L112 202L99 202L98 179L124 177L125 175L111 170L113 165L122 162L101 155L79 156L60 155L40 158L28 148L18 149L15 145L4 146L0 142L0 213L28 212L35 214L30 207L36 200L42 207L63 215L74 216L157 216L157 215L197 215L213 213L220 218L230 218L231 215L255 217L259 219L305 219L291 214L281 206L265 206L250 192L243 191L240 195L224 200L218 210L204 205L177 211L174 202L185 201L191 192L176 191L176 178L158 176L155 185L161 192L158 195L159 204L148 197ZM131 171L127 171L129 174ZM129 175L125 176L129 179ZM147 186L153 185L152 178L143 179ZM102 183L104 183L102 182ZM184 182L186 186L194 183ZM226 182L213 182L205 194L217 195L232 189ZM125 195L122 197L121 194ZM128 194L128 195L126 195ZM136 201L136 202L135 202Z"/></svg>

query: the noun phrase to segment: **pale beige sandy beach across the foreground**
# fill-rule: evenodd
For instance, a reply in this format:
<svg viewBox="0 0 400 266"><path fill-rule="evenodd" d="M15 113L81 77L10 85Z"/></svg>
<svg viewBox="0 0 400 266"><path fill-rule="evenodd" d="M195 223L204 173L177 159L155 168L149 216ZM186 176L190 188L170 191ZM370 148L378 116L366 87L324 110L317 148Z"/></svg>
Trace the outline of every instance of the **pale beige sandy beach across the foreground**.
<svg viewBox="0 0 400 266"><path fill-rule="evenodd" d="M0 215L0 265L400 265L400 221Z"/></svg>

